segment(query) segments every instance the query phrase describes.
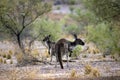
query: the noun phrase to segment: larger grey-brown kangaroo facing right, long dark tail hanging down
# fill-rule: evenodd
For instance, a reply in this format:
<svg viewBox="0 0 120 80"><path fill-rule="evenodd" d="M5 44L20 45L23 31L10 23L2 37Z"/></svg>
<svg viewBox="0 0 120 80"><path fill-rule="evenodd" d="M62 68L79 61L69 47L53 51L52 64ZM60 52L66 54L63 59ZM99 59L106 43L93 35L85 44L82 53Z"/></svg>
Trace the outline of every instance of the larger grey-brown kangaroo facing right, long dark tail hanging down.
<svg viewBox="0 0 120 80"><path fill-rule="evenodd" d="M62 55L64 54L67 55L67 67L68 67L68 52L72 51L71 48L74 48L77 45L85 45L85 43L81 39L77 38L76 34L74 34L73 36L75 38L73 42L63 38L58 40L57 43L55 44L55 56L60 63L61 69L64 69L62 64ZM57 67L57 60L56 60L55 67Z"/></svg>

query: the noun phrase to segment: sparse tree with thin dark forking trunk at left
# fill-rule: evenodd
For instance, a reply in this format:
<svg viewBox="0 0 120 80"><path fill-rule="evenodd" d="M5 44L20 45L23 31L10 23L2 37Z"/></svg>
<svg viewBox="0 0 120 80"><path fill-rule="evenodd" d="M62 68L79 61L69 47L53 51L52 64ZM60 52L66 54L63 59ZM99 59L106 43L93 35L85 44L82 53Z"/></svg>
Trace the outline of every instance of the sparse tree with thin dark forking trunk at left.
<svg viewBox="0 0 120 80"><path fill-rule="evenodd" d="M41 0L2 0L0 2L1 30L11 35L18 43L24 54L22 61L28 56L22 39L25 35L24 30L29 30L31 24L50 9L51 6Z"/></svg>

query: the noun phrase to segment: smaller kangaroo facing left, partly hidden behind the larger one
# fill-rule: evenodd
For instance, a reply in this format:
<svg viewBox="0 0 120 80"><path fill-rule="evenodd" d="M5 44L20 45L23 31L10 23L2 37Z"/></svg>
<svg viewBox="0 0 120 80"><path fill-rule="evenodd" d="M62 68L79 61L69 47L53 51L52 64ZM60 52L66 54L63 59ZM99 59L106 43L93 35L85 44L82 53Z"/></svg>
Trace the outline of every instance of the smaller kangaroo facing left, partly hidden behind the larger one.
<svg viewBox="0 0 120 80"><path fill-rule="evenodd" d="M51 60L52 61L52 56L55 55L55 42L50 41L51 35L46 36L43 39L43 42L46 42L48 46L48 53L50 54Z"/></svg>

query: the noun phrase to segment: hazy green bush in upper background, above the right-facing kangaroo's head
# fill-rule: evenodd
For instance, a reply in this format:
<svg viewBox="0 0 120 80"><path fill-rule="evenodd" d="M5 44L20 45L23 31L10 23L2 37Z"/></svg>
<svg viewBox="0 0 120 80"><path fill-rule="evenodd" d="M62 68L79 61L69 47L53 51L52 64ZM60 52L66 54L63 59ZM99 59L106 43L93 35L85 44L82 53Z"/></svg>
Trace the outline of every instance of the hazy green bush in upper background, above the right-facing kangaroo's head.
<svg viewBox="0 0 120 80"><path fill-rule="evenodd" d="M75 10L75 13L76 14L70 16L83 27L87 26L88 24L96 23L96 21L98 21L96 15L87 9L77 8Z"/></svg>

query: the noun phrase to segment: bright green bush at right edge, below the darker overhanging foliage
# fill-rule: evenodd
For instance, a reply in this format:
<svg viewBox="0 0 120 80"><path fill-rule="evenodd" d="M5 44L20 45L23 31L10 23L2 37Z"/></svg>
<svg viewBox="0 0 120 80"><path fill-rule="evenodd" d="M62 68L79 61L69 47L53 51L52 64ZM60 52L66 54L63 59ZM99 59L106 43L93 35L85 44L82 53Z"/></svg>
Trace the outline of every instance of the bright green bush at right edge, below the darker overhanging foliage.
<svg viewBox="0 0 120 80"><path fill-rule="evenodd" d="M88 26L87 39L96 43L102 51L109 49L111 53L119 53L119 31L117 28L111 31L109 26L110 25L105 23L96 26Z"/></svg>

